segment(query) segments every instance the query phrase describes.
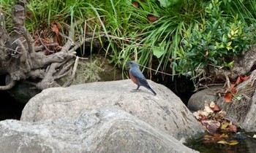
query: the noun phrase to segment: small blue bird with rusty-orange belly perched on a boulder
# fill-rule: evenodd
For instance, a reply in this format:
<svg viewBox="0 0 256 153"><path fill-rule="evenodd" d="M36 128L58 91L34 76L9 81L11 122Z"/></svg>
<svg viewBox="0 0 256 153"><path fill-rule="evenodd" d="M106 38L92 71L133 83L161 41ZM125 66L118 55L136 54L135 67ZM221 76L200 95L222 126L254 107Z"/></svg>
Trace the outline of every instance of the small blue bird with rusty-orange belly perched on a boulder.
<svg viewBox="0 0 256 153"><path fill-rule="evenodd" d="M132 79L132 82L134 82L136 85L138 85L137 89L139 90L140 86L146 87L148 90L150 90L154 95L157 95L156 92L148 85L148 81L146 80L145 76L140 71L138 63L135 61L127 61L129 63L129 77Z"/></svg>

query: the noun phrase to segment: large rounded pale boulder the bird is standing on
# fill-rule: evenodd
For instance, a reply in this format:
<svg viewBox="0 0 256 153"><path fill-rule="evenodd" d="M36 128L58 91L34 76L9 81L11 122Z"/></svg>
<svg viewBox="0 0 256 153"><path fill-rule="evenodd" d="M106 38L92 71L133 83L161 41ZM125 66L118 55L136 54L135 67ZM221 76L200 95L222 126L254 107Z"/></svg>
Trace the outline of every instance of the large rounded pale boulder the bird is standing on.
<svg viewBox="0 0 256 153"><path fill-rule="evenodd" d="M137 86L129 79L46 89L26 104L21 120L38 122L74 117L83 109L111 106L129 112L178 140L204 131L178 96L163 85L148 82L156 96L143 87L132 91Z"/></svg>

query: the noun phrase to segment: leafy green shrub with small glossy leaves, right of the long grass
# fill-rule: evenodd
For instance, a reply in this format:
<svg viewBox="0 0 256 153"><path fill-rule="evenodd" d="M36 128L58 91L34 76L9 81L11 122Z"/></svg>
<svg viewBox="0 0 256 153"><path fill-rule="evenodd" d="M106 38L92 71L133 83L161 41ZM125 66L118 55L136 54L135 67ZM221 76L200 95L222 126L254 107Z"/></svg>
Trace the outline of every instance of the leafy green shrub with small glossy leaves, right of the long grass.
<svg viewBox="0 0 256 153"><path fill-rule="evenodd" d="M251 28L238 15L228 17L219 8L222 2L212 0L206 7L203 23L195 23L186 31L184 50L178 52L178 71L195 72L198 67L233 66L233 56L249 48L252 44Z"/></svg>

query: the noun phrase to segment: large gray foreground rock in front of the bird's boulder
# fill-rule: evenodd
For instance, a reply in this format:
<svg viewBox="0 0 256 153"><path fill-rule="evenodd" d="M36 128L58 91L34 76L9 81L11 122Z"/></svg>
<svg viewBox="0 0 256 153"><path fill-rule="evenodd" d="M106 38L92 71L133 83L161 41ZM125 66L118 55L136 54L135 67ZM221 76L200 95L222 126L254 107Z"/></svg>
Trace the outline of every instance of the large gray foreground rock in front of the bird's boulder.
<svg viewBox="0 0 256 153"><path fill-rule="evenodd" d="M38 122L1 121L0 149L8 153L196 152L125 111L102 107Z"/></svg>

